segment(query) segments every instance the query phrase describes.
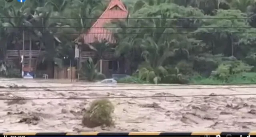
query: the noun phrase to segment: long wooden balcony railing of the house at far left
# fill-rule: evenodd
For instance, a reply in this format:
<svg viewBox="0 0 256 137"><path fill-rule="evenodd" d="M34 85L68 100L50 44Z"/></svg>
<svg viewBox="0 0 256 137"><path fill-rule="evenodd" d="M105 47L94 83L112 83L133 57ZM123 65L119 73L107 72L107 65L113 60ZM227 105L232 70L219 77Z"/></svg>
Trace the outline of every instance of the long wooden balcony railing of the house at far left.
<svg viewBox="0 0 256 137"><path fill-rule="evenodd" d="M24 50L24 54L23 51L20 50L20 55L24 55L24 57L38 57L38 55L40 54L45 54L45 51L29 51L29 50ZM7 50L6 52L7 57L18 57L19 56L19 51L18 50Z"/></svg>

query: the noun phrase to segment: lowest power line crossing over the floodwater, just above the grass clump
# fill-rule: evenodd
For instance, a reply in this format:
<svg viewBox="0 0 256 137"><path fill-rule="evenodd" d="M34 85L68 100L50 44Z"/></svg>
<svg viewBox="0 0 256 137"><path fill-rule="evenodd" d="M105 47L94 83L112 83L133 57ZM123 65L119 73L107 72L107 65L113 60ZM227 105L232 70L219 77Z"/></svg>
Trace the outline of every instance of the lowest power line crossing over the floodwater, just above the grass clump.
<svg viewBox="0 0 256 137"><path fill-rule="evenodd" d="M0 98L0 100L87 100L114 98L175 98L175 97L204 97L204 96L252 96L256 94L214 94L214 95L181 95L181 96L112 96L112 97L70 97L70 98Z"/></svg>

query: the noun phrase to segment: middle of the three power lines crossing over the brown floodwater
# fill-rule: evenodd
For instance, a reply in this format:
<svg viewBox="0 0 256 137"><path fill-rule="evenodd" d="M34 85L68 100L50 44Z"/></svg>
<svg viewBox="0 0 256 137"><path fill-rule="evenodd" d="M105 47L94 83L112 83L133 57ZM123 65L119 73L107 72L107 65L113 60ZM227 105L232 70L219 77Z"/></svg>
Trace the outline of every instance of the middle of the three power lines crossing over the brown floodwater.
<svg viewBox="0 0 256 137"><path fill-rule="evenodd" d="M233 87L187 87L187 88L128 88L128 89L66 89L66 90L0 90L0 92L68 92L68 91L119 91L119 90L188 90L188 89L238 89L238 88L256 88L256 86L233 86Z"/></svg>

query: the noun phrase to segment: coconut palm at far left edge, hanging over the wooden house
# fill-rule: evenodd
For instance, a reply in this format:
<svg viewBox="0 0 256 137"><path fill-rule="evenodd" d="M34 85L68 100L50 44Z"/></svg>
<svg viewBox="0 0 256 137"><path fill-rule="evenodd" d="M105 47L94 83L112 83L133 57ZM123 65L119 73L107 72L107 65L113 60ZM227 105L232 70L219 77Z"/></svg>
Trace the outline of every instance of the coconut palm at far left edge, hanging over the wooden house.
<svg viewBox="0 0 256 137"><path fill-rule="evenodd" d="M8 41L14 43L17 50L20 50L21 45L24 47L25 32L30 33L29 37L37 35L37 31L33 28L33 25L30 22L33 20L30 12L31 9L27 8L26 4L18 10L14 6L6 6L0 10L2 27L4 27L4 31L2 31L1 35L2 42L5 45L4 49L7 48Z"/></svg>

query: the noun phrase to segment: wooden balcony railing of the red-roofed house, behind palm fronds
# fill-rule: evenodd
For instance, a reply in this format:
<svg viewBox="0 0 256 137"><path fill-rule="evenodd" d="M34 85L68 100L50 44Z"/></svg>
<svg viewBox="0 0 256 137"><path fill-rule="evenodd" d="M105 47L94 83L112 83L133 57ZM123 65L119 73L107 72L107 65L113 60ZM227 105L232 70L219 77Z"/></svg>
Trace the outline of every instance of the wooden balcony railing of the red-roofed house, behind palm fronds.
<svg viewBox="0 0 256 137"><path fill-rule="evenodd" d="M96 55L96 53L94 51L82 51L80 56L81 56L82 60L83 59L89 59L90 57L92 59L97 57L97 55ZM114 59L114 52L106 52L106 53L104 53L103 58L104 59Z"/></svg>

